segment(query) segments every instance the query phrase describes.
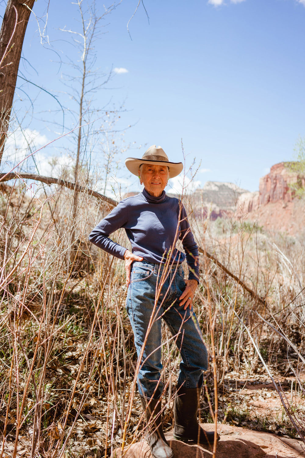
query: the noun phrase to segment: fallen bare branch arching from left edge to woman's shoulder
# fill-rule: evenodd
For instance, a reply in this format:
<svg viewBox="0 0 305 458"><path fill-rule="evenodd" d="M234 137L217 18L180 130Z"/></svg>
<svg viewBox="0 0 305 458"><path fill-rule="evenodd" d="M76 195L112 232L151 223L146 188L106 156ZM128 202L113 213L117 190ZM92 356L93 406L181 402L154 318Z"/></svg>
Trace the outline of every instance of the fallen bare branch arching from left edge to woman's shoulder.
<svg viewBox="0 0 305 458"><path fill-rule="evenodd" d="M103 202L106 202L108 205L111 205L112 207L116 207L118 205L118 202L110 199L109 197L104 196L103 194L100 194L97 191L92 191L91 189L85 188L83 186L75 185L75 183L72 183L71 181L65 181L65 180L60 180L59 178L52 178L50 176L43 176L43 175L35 175L35 174L30 174L30 173L1 173L0 174L0 182L1 181L8 181L8 180L17 180L19 178L22 178L23 180L36 180L36 181L41 181L42 183L45 183L46 185L60 185L64 186L68 189L75 189L75 191L78 192L86 192L90 196L97 197L98 199L101 199Z"/></svg>

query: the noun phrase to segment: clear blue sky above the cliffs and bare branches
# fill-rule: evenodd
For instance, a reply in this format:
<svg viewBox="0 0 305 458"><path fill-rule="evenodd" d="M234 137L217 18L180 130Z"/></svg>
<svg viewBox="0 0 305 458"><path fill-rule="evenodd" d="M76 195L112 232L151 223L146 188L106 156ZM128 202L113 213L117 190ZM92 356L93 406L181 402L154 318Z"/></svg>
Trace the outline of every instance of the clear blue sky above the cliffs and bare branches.
<svg viewBox="0 0 305 458"><path fill-rule="evenodd" d="M201 163L196 186L215 180L257 190L259 178L273 164L294 158L294 146L305 136L305 0L147 0L150 23L139 5L129 23L130 39L126 26L137 3L123 0L105 18L107 33L95 43L94 68L105 74L125 69L113 71L112 80L94 94L96 107L124 104L116 129L132 126L123 137L132 146L122 160L140 157L145 145L155 143L171 160L183 160L182 139L187 165L193 159ZM47 5L35 3L38 17L45 19ZM63 74L71 75L71 69L59 65L58 56L76 61L77 54L59 28L77 30L77 17L75 5L52 0L46 31L50 44L44 46L32 17L23 48L27 61L20 66L21 75L66 107L73 100L64 94ZM18 84L26 93L23 97L17 91L19 118L24 107L34 112L26 116L24 128L37 138L36 146L52 140L60 133L51 123L60 123L60 112L54 114L58 104L31 84ZM42 169L53 154L64 154L72 144L66 138L52 144L40 156ZM98 155L92 161L98 162ZM124 169L119 176L129 190L139 189L136 177Z"/></svg>

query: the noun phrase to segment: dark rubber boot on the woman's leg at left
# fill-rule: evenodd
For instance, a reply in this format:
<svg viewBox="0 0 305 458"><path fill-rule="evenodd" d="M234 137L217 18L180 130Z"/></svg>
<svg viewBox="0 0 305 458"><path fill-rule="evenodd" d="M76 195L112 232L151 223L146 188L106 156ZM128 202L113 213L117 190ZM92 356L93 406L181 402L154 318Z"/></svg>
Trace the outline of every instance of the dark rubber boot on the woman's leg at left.
<svg viewBox="0 0 305 458"><path fill-rule="evenodd" d="M161 398L147 399L140 396L141 403L146 414L146 423L148 424L148 433L146 441L150 446L150 451L155 458L172 458L171 447L166 442L163 434L161 420Z"/></svg>

